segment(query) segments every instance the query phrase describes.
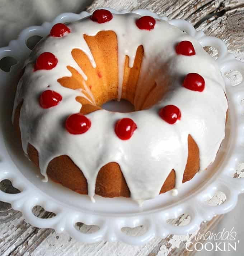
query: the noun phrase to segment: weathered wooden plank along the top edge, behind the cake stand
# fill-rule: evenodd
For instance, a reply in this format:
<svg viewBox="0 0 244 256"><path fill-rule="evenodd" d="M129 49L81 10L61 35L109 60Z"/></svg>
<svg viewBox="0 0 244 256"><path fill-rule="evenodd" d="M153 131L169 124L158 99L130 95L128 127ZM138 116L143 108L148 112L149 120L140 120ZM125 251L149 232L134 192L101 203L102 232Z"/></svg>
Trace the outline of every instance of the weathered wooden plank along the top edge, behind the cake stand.
<svg viewBox="0 0 244 256"><path fill-rule="evenodd" d="M186 19L192 24L196 24L197 22L201 22L201 20L204 22L204 19L207 18L208 15L211 16L213 13L218 13L222 8L225 10L235 10L238 8L238 5L243 3L243 0L95 0L93 4L88 7L88 11L92 12L92 10L102 6L108 6L116 10L147 9L160 16L166 16L169 19Z"/></svg>

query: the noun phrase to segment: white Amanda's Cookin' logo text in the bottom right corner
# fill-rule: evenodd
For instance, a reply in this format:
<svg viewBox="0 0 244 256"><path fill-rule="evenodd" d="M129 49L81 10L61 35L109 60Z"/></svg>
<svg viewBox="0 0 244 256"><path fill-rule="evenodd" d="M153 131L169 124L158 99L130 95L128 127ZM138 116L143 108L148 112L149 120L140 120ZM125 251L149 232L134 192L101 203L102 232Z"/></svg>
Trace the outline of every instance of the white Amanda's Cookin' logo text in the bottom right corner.
<svg viewBox="0 0 244 256"><path fill-rule="evenodd" d="M207 231L205 234L198 233L187 234L186 250L187 251L236 251L239 240L236 240L234 228L230 231L223 228L218 233Z"/></svg>

